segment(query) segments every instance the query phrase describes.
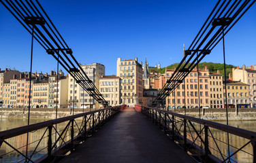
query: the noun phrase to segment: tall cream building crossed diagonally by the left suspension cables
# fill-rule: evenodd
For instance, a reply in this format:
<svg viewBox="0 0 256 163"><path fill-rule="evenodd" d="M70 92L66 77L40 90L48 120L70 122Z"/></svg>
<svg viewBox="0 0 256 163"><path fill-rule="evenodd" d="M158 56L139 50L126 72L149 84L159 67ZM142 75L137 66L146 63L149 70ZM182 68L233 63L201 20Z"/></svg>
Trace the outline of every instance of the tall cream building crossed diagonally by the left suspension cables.
<svg viewBox="0 0 256 163"><path fill-rule="evenodd" d="M99 79L101 75L105 75L105 66L99 63L92 63L91 65L80 65L86 75L93 81L96 88L99 90ZM73 77L69 75L68 84L68 107L69 108L91 108L99 109L99 105L93 97L89 96L79 84L74 81Z"/></svg>

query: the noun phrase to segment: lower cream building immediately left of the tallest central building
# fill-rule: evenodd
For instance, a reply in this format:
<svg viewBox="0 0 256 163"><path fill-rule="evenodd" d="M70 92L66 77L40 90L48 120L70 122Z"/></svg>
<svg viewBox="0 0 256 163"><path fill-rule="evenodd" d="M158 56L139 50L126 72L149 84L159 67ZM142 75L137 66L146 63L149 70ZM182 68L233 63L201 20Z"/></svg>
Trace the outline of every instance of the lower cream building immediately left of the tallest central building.
<svg viewBox="0 0 256 163"><path fill-rule="evenodd" d="M111 106L121 104L121 78L116 75L104 75L99 79L99 92Z"/></svg>

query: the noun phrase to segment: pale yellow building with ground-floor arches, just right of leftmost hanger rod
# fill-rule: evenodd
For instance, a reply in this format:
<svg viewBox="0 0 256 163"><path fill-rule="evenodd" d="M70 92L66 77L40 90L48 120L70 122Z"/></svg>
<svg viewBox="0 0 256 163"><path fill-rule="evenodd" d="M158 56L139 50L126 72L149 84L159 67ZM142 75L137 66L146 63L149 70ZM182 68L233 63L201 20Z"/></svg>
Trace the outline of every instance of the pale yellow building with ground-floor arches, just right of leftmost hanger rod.
<svg viewBox="0 0 256 163"><path fill-rule="evenodd" d="M32 107L33 108L47 108L48 107L48 90L49 83L38 82L33 84Z"/></svg>

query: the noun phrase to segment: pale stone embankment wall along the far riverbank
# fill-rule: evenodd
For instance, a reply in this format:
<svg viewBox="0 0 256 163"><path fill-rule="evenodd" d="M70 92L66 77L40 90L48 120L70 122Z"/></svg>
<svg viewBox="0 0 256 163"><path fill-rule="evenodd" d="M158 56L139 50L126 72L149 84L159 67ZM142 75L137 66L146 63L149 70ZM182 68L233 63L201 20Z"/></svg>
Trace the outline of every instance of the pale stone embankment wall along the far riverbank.
<svg viewBox="0 0 256 163"><path fill-rule="evenodd" d="M31 108L30 118L44 118L44 119L55 119L56 109L51 108ZM74 114L90 111L90 109L74 109ZM185 114L184 109L170 110L176 113ZM0 108L0 118L10 118L10 117L28 117L28 109L26 108L24 113L22 108ZM201 118L204 120L226 120L226 109L201 109ZM71 109L59 108L58 116L67 117L73 115ZM186 109L186 115L191 117L199 117L199 109ZM229 120L256 120L256 109L238 109L235 108L228 109Z"/></svg>

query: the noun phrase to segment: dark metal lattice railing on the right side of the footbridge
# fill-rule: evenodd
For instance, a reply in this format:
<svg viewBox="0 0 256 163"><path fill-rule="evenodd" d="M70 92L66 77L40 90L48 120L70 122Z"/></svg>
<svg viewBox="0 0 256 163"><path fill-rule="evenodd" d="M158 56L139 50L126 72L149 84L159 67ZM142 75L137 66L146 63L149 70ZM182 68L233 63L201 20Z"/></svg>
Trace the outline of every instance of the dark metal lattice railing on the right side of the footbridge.
<svg viewBox="0 0 256 163"><path fill-rule="evenodd" d="M189 117L171 111L141 107L142 113L198 162L256 162L256 132ZM227 152L227 135L234 137ZM251 144L251 145L250 145Z"/></svg>

